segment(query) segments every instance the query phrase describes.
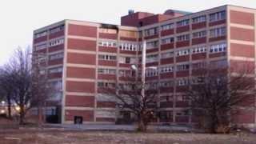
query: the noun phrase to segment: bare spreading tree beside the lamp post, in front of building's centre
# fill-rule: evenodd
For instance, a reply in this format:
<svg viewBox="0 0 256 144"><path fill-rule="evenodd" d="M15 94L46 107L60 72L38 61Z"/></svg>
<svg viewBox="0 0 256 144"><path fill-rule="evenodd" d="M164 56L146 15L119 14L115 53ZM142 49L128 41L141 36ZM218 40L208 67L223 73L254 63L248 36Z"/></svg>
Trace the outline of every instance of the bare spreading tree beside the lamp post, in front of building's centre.
<svg viewBox="0 0 256 144"><path fill-rule="evenodd" d="M143 91L145 94L142 94ZM157 83L119 83L118 86L106 88L103 93L114 96L120 110L127 110L134 115L138 131L145 132L149 122L153 122L158 115Z"/></svg>

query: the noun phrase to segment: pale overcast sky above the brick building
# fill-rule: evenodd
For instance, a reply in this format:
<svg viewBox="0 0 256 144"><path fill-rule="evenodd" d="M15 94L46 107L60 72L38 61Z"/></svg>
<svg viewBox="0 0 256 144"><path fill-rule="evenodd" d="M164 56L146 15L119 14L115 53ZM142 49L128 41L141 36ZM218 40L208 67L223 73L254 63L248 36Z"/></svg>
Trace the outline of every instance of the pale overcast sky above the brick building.
<svg viewBox="0 0 256 144"><path fill-rule="evenodd" d="M33 30L63 19L120 24L130 9L162 14L167 9L197 12L226 4L256 8L255 0L2 0L0 66L16 47L32 45Z"/></svg>

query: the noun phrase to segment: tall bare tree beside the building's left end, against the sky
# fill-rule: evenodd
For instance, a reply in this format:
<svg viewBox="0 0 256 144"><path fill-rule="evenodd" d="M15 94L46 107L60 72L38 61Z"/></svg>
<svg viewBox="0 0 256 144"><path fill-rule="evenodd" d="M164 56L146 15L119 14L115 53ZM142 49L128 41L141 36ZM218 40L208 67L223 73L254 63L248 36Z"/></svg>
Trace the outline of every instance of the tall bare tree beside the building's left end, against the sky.
<svg viewBox="0 0 256 144"><path fill-rule="evenodd" d="M38 68L34 70L32 67L30 49L18 48L3 68L3 77L7 78L5 89L11 90L11 99L19 107L20 124L24 124L27 111L32 107L41 106L48 96L46 78L39 74Z"/></svg>

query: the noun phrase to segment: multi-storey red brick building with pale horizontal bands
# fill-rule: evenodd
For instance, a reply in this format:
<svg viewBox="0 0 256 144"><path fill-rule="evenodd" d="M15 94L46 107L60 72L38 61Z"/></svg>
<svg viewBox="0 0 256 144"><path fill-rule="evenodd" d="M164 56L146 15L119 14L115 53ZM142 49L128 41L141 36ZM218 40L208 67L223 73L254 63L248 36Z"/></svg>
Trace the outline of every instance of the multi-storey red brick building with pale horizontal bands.
<svg viewBox="0 0 256 144"><path fill-rule="evenodd" d="M116 122L121 116L113 98L101 89L134 77L130 66L138 65L146 40L146 66L158 67L146 71L146 81L163 87L158 97L168 118L158 122L193 122L183 111L188 102L180 88L202 62L254 64L255 24L256 10L220 6L197 13L130 11L121 26L64 20L34 30L34 53L47 55L41 72L59 89L46 114L58 114L61 123L74 123L75 117L83 123ZM244 111L237 122L254 126L255 111Z"/></svg>

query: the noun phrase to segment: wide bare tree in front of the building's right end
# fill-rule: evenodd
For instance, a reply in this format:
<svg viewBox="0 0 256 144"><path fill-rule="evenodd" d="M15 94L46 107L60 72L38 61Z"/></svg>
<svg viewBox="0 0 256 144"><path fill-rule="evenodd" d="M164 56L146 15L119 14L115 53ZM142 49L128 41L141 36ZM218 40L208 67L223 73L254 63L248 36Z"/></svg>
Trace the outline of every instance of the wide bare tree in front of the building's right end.
<svg viewBox="0 0 256 144"><path fill-rule="evenodd" d="M229 126L243 102L254 102L254 66L233 66L206 66L197 71L184 90L193 116L203 119L211 133L216 133L219 126Z"/></svg>

